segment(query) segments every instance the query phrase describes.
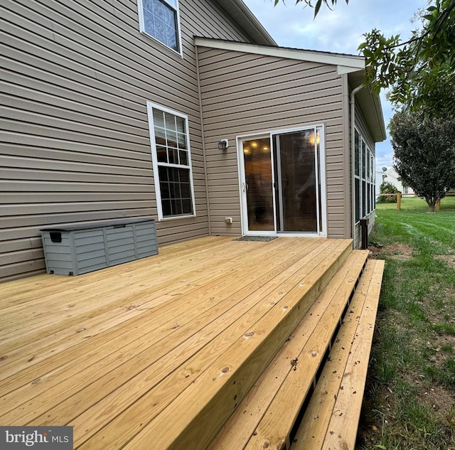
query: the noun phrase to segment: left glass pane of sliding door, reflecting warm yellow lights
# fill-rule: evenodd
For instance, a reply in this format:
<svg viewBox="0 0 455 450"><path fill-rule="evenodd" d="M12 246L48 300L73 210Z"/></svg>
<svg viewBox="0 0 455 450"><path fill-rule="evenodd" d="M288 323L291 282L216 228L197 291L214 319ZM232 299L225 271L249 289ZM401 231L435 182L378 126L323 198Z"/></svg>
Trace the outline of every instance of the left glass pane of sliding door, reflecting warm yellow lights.
<svg viewBox="0 0 455 450"><path fill-rule="evenodd" d="M274 201L270 139L243 141L245 193L249 231L274 231Z"/></svg>

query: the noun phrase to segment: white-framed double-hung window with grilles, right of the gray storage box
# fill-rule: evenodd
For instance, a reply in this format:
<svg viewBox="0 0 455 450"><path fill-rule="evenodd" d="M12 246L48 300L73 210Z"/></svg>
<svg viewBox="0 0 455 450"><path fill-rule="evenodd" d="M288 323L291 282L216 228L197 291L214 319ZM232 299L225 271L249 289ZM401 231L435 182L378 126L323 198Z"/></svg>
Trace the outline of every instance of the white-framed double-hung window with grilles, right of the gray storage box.
<svg viewBox="0 0 455 450"><path fill-rule="evenodd" d="M147 102L159 220L196 215L188 117Z"/></svg>

